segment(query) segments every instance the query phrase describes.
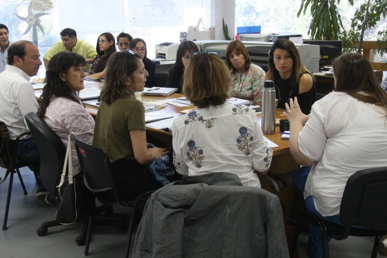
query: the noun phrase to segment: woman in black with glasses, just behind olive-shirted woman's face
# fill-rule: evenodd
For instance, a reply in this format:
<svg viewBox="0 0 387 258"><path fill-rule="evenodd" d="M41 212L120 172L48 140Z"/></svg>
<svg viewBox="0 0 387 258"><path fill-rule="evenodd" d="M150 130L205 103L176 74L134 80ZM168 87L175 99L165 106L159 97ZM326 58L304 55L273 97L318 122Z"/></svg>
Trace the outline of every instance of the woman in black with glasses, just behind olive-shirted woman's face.
<svg viewBox="0 0 387 258"><path fill-rule="evenodd" d="M147 43L145 43L144 39L135 38L129 42L129 49L135 51L135 53L139 54L143 59L143 63L145 66L145 70L147 70L149 76L147 81L145 82L145 86L153 87L156 86L155 82L155 71L156 71L156 63L147 57Z"/></svg>

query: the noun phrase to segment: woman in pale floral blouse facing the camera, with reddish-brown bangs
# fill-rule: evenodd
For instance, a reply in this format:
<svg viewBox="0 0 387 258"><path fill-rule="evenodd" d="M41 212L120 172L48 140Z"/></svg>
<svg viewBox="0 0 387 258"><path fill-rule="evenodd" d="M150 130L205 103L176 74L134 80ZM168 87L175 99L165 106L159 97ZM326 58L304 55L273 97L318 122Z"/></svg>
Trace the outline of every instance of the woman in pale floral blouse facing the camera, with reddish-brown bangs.
<svg viewBox="0 0 387 258"><path fill-rule="evenodd" d="M251 63L246 47L239 40L228 44L226 63L231 70L231 95L250 100L251 104L261 102L265 71Z"/></svg>

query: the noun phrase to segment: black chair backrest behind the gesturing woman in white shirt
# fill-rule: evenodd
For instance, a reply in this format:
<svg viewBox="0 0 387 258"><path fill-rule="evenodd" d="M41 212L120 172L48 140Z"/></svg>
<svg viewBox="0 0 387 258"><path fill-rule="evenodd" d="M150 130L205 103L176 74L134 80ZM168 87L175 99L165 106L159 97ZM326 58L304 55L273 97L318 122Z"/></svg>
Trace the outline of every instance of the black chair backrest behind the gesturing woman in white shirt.
<svg viewBox="0 0 387 258"><path fill-rule="evenodd" d="M387 167L364 169L347 181L340 221L373 230L387 230Z"/></svg>

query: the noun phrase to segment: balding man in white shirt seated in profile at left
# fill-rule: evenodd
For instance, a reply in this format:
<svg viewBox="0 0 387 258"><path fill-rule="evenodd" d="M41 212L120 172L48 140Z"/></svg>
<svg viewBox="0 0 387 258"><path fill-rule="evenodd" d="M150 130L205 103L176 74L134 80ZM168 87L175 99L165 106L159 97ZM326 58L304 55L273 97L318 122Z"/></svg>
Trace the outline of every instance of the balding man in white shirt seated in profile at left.
<svg viewBox="0 0 387 258"><path fill-rule="evenodd" d="M39 49L27 40L14 42L8 49L8 64L6 70L0 73L0 120L7 125L11 140L29 132L24 115L38 110L29 80L30 76L38 73L42 64L39 56ZM20 159L40 156L31 137L20 140L16 152ZM46 195L47 191L40 187L37 197Z"/></svg>

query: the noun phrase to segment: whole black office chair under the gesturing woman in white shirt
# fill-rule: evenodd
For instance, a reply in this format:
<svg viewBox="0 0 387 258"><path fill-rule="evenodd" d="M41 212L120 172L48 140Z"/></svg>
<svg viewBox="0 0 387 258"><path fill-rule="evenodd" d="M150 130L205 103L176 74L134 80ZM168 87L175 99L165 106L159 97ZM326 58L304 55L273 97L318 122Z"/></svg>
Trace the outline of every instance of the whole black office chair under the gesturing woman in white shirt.
<svg viewBox="0 0 387 258"><path fill-rule="evenodd" d="M350 176L340 205L339 219L343 225L321 219L306 210L301 211L298 218L304 219L299 223L307 221L321 229L324 257L330 257L326 237L341 240L351 235L375 236L371 253L371 258L375 258L378 237L387 234L387 167L364 169ZM295 250L298 232L296 227L291 253Z"/></svg>

